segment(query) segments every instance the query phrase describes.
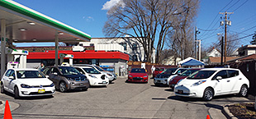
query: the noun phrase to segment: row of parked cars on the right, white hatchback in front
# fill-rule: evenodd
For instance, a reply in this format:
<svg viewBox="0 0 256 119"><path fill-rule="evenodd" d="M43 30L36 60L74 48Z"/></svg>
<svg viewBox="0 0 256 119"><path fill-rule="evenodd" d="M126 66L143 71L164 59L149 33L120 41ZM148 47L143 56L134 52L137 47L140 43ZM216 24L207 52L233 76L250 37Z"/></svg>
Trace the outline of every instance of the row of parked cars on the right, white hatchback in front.
<svg viewBox="0 0 256 119"><path fill-rule="evenodd" d="M168 85L177 96L210 101L223 94L246 96L249 80L233 68L168 68L154 77L154 85Z"/></svg>

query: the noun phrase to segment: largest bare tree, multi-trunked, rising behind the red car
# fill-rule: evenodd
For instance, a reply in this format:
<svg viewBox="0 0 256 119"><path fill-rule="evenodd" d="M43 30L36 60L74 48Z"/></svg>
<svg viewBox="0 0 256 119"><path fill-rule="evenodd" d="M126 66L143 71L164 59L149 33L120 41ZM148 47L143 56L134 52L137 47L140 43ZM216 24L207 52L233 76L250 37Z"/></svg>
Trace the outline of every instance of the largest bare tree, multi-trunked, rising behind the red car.
<svg viewBox="0 0 256 119"><path fill-rule="evenodd" d="M112 37L129 34L143 45L145 61L150 62L154 43L156 57L160 57L174 21L182 17L179 15L190 13L187 3L192 1L197 0L123 0L107 12L108 21L103 32ZM187 21L184 25L187 26Z"/></svg>

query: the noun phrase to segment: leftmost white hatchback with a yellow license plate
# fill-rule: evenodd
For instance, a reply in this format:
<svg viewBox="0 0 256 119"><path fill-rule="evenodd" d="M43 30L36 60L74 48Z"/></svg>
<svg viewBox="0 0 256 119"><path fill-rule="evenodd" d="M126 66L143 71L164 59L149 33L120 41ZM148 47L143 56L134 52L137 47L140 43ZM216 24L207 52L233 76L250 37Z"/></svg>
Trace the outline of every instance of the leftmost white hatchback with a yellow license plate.
<svg viewBox="0 0 256 119"><path fill-rule="evenodd" d="M37 69L8 69L1 80L1 93L15 98L55 94L55 85Z"/></svg>

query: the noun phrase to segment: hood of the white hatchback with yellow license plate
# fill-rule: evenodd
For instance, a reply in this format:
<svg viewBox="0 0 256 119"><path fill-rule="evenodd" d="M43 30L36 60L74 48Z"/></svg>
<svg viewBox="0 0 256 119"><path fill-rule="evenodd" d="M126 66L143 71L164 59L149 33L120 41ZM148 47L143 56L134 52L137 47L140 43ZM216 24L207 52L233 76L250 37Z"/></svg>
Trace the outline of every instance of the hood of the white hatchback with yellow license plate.
<svg viewBox="0 0 256 119"><path fill-rule="evenodd" d="M47 78L18 79L24 85L51 85L53 82Z"/></svg>

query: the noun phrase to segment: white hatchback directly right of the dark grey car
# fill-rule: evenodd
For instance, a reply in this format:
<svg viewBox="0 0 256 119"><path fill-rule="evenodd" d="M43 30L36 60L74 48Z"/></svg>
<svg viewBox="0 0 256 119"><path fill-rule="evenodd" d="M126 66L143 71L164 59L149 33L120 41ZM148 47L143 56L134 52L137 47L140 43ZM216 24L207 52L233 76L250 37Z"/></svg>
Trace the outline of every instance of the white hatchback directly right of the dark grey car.
<svg viewBox="0 0 256 119"><path fill-rule="evenodd" d="M106 75L92 68L91 66L73 66L84 76L87 76L89 84L92 86L108 85L109 80Z"/></svg>

